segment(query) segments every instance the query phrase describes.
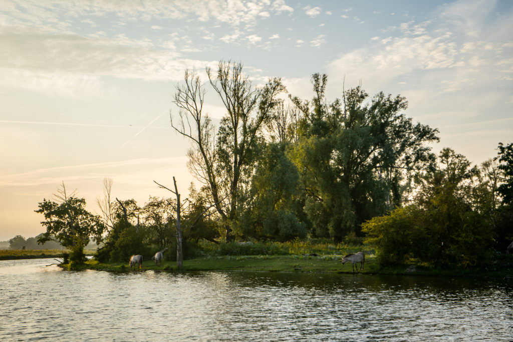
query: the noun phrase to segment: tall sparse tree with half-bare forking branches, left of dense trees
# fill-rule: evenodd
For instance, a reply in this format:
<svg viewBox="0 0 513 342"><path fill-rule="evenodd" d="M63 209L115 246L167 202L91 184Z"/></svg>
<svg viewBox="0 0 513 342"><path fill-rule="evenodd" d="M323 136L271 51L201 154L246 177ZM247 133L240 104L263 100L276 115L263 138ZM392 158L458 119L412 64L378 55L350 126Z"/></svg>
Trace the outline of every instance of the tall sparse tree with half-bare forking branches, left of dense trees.
<svg viewBox="0 0 513 342"><path fill-rule="evenodd" d="M176 87L173 102L180 114L176 124L171 116L171 125L190 140L189 170L208 187L229 241L234 239L232 227L241 200L247 196L262 130L284 87L277 78L269 79L263 87L254 87L242 73L240 63L221 61L217 70L207 68L206 72L226 109L219 128L215 130L210 117L203 113L206 90L200 77L188 70L185 84Z"/></svg>

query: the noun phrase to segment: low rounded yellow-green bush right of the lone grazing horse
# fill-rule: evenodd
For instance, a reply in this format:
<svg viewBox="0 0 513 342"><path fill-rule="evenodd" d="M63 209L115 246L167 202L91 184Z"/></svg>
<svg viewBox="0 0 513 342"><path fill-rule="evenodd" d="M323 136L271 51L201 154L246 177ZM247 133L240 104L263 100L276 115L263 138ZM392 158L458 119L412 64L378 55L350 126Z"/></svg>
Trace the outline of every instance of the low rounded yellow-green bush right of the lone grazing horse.
<svg viewBox="0 0 513 342"><path fill-rule="evenodd" d="M435 267L486 264L492 227L479 213L451 208L422 211L409 206L374 217L362 225L365 242L376 247L382 265L404 264L409 258Z"/></svg>

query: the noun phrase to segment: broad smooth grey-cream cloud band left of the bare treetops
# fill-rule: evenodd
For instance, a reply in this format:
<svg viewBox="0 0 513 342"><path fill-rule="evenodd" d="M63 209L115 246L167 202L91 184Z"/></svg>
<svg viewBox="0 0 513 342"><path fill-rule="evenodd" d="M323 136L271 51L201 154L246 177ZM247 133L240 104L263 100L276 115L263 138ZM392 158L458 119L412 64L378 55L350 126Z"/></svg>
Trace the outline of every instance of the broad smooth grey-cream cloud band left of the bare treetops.
<svg viewBox="0 0 513 342"><path fill-rule="evenodd" d="M4 29L0 41L0 84L71 96L105 94L105 76L180 81L184 69L212 63L182 58L172 41L155 46L148 39L125 35L88 38Z"/></svg>

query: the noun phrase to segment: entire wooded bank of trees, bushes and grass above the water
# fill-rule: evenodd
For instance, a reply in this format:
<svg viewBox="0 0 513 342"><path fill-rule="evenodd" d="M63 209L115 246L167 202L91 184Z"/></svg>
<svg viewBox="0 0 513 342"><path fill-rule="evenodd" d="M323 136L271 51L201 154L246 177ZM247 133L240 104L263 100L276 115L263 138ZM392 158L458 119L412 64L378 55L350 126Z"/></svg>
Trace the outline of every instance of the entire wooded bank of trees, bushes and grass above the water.
<svg viewBox="0 0 513 342"><path fill-rule="evenodd" d="M197 180L188 197L170 175L153 180L169 197L140 205L105 178L97 215L63 183L35 210L38 243L62 244L70 269L125 269L132 255L150 269L163 252L159 269L346 272L341 257L363 251L362 273L510 272L513 143L472 165L450 147L432 152L439 130L413 122L403 96L360 85L328 99L328 76L315 73L303 99L242 69L220 61L207 82L186 70L175 88L171 126ZM207 89L224 105L219 122L203 110Z"/></svg>

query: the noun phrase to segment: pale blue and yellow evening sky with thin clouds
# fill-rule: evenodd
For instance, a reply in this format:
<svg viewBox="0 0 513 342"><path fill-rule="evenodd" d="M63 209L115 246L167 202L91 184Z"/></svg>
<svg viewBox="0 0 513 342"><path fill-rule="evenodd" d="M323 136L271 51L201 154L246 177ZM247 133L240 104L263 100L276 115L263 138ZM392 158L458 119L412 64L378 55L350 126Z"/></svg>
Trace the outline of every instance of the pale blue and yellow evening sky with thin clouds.
<svg viewBox="0 0 513 342"><path fill-rule="evenodd" d="M362 85L405 96L405 114L480 164L513 140L513 2L1 0L0 240L45 231L35 213L64 182L95 201L187 194L189 143L170 125L185 69L220 60L254 85L281 77L327 99ZM208 84L205 109L223 116ZM184 195L183 195L184 196Z"/></svg>

